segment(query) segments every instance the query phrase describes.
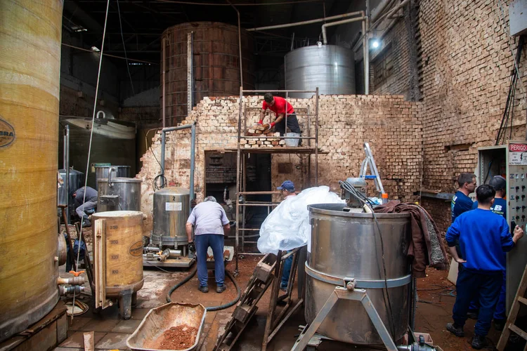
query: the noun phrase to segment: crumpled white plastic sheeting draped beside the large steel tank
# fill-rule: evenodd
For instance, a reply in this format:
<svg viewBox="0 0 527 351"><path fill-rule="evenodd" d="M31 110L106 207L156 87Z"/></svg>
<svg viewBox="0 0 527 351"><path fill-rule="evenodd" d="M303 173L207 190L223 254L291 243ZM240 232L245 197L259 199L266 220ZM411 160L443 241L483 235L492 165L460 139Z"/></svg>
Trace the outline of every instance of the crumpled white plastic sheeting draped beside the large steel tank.
<svg viewBox="0 0 527 351"><path fill-rule="evenodd" d="M287 197L261 224L258 250L276 255L279 250L292 250L307 244L311 252L311 225L307 206L344 202L327 186L310 187L297 196Z"/></svg>

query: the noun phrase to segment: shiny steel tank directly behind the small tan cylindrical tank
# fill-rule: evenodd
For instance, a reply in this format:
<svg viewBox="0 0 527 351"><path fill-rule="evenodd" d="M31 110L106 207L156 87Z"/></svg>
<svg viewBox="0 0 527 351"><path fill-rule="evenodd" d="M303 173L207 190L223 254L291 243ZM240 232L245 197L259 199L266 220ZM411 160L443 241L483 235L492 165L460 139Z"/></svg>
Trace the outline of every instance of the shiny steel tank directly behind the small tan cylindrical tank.
<svg viewBox="0 0 527 351"><path fill-rule="evenodd" d="M97 212L141 211L141 183L136 178L98 179Z"/></svg>

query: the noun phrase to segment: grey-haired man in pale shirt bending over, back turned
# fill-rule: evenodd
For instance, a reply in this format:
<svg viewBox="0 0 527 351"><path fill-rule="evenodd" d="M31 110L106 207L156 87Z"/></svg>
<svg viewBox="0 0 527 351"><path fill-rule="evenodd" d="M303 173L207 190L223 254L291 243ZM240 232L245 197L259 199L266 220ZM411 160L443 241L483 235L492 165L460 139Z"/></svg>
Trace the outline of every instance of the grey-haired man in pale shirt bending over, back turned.
<svg viewBox="0 0 527 351"><path fill-rule="evenodd" d="M194 226L194 239L192 227ZM209 292L207 273L207 250L209 246L214 253L214 275L216 278L216 292L225 291L225 265L223 265L223 234L230 230L227 215L214 197L206 197L201 204L197 204L188 216L186 231L189 251L196 252L197 279L202 293Z"/></svg>

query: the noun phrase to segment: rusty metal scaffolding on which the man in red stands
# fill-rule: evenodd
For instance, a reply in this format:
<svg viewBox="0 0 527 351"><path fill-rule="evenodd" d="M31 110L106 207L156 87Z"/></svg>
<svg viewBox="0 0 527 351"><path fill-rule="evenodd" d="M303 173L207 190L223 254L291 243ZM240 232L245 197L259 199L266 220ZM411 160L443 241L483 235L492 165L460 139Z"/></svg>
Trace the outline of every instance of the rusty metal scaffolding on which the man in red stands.
<svg viewBox="0 0 527 351"><path fill-rule="evenodd" d="M285 93L285 100L289 98L289 93L313 93L315 95L315 111L310 113L309 109L298 109L298 111L306 110L305 113L298 113L295 111L297 116L307 117L307 136L300 137L289 137L282 135L278 136L246 136L247 131L247 112L249 110L255 110L251 107L244 108L245 102L243 101L244 93ZM276 191L265 191L265 192L247 192L247 166L246 159L248 154L307 154L308 155L308 183L311 186L311 155L314 155L315 163L315 186L318 185L318 88L315 91L293 91L293 90L281 90L281 91L261 91L261 90L243 90L240 88L240 111L238 117L238 148L236 158L236 236L235 236L235 276L238 275L238 258L243 255L263 255L263 253L245 252L245 244L256 244L257 241L247 241L247 238L259 237L259 229L246 228L245 227L245 211L247 207L266 207L267 214L271 213L275 206L278 206L279 202L273 202L272 196L280 194ZM256 110L260 110L259 108ZM285 109L285 131L287 132L287 106ZM311 117L314 117L314 121ZM314 135L311 135L311 126L314 122ZM242 132L243 131L243 132ZM290 138L306 140L307 145L301 147L257 147L257 148L246 148L242 147L240 141L242 139L250 140L252 138ZM311 141L314 140L314 145ZM247 201L247 196L252 195L271 195L271 201ZM242 201L240 201L240 197ZM240 213L241 212L241 213ZM240 216L241 214L241 216ZM246 234L250 233L250 234Z"/></svg>

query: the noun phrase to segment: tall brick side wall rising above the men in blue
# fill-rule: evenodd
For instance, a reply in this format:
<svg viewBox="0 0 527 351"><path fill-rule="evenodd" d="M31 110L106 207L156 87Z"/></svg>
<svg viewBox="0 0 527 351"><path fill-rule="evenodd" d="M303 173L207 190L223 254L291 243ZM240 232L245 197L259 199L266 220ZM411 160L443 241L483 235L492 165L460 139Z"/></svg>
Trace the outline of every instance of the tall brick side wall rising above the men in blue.
<svg viewBox="0 0 527 351"><path fill-rule="evenodd" d="M495 143L518 43L509 37L509 2L420 1L424 189L454 192L457 175L474 172L477 148ZM520 140L526 138L526 49L512 131L512 138ZM423 204L441 230L450 225L448 202L426 199Z"/></svg>

